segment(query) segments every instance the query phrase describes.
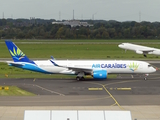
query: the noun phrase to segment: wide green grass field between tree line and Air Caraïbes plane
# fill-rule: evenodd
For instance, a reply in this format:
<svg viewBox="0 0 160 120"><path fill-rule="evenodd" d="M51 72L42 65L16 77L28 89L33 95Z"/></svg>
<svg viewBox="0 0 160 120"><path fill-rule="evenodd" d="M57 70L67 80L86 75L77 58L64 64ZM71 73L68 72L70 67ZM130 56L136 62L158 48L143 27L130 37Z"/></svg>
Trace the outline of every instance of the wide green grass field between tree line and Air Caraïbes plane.
<svg viewBox="0 0 160 120"><path fill-rule="evenodd" d="M119 40L118 43L118 40L110 40L110 42L105 42L105 40L99 40L101 42L99 42L98 40L92 40L89 43L83 43L83 41L85 41L83 40L78 44L77 42L73 43L73 40L63 40L63 42L56 43L48 43L44 40L41 40L41 42L33 43L35 41L32 41L30 43L17 42L16 45L29 58L50 58L50 56L53 55L57 59L159 59L159 57L155 55L148 55L148 58L144 58L143 55L138 55L133 51L127 51L125 53L124 50L118 47L118 44L124 42L124 40ZM113 41L114 43L112 43ZM152 40L136 41L143 41L143 45L146 46L160 48L159 42L156 42L158 40L154 40L156 44L153 44ZM0 58L10 58L10 54L4 42L1 42L0 44L0 51L2 51L0 54Z"/></svg>

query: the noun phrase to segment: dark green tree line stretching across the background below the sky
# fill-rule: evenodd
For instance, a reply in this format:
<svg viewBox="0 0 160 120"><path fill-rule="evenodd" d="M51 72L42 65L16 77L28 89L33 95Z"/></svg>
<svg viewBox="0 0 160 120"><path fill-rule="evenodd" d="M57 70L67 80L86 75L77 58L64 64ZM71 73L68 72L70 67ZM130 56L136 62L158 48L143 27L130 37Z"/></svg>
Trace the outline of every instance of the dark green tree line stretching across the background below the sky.
<svg viewBox="0 0 160 120"><path fill-rule="evenodd" d="M160 22L85 20L92 27L43 19L0 19L1 39L160 39Z"/></svg>

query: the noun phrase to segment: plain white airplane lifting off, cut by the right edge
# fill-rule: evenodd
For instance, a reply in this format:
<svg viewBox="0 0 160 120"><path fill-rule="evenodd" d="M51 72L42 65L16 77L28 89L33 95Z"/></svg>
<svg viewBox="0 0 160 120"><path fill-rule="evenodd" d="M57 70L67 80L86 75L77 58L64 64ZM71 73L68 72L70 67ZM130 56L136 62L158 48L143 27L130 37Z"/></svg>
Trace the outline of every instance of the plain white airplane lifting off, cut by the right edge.
<svg viewBox="0 0 160 120"><path fill-rule="evenodd" d="M136 45L132 43L122 43L122 44L119 44L118 47L125 50L135 51L137 54L143 54L144 57L147 57L147 54L160 55L160 49L146 47L142 45Z"/></svg>

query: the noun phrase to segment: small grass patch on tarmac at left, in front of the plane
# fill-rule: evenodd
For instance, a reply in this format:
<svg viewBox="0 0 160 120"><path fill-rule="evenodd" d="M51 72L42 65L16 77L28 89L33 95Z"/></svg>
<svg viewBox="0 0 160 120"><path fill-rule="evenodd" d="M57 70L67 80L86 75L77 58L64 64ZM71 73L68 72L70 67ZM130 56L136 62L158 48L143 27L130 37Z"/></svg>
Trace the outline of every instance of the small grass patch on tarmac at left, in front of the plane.
<svg viewBox="0 0 160 120"><path fill-rule="evenodd" d="M35 94L22 90L16 86L9 86L9 90L0 90L0 96L33 96Z"/></svg>

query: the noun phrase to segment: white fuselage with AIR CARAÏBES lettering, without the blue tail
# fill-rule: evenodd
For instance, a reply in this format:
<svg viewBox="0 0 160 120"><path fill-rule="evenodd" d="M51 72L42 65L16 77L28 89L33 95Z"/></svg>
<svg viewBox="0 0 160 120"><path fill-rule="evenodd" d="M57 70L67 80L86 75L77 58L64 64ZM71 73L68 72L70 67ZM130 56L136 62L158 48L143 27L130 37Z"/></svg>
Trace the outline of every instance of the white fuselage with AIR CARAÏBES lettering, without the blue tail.
<svg viewBox="0 0 160 120"><path fill-rule="evenodd" d="M78 70L85 69L87 71L106 70L107 73L152 73L155 72L149 63L133 60L54 60L59 66L52 64L50 60L34 61L36 65L49 73L76 74L75 68Z"/></svg>

